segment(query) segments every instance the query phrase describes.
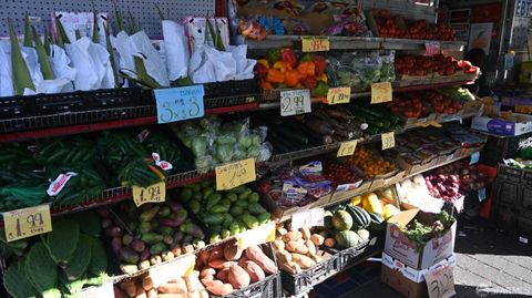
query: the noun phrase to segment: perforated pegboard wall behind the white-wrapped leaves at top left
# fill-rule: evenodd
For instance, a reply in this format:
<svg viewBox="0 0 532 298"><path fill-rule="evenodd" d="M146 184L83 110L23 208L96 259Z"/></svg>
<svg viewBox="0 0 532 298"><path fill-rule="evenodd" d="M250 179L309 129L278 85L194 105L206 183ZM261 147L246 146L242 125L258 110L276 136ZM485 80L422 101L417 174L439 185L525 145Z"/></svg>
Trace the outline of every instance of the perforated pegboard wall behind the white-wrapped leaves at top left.
<svg viewBox="0 0 532 298"><path fill-rule="evenodd" d="M155 4L157 3L164 14L168 14L171 20L180 20L186 16L213 16L215 13L215 0L94 0L98 12L106 12L110 16L112 25L114 22L114 7L122 11L122 16L127 16L131 11L141 28L150 37L161 37L161 19ZM31 17L40 17L41 24L44 27L50 23L54 11L68 12L91 12L92 1L89 0L0 0L0 35L8 35L8 18L13 20L16 30L19 34L23 33L24 13ZM125 19L124 19L125 22Z"/></svg>

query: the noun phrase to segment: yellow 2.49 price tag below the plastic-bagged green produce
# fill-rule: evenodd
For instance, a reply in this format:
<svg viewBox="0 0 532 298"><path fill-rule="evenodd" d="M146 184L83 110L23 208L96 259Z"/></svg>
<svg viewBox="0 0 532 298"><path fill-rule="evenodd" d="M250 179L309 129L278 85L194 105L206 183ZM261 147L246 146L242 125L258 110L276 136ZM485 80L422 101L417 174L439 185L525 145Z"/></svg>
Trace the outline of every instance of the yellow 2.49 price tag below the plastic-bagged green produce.
<svg viewBox="0 0 532 298"><path fill-rule="evenodd" d="M215 172L216 191L232 189L257 178L255 158L216 166Z"/></svg>

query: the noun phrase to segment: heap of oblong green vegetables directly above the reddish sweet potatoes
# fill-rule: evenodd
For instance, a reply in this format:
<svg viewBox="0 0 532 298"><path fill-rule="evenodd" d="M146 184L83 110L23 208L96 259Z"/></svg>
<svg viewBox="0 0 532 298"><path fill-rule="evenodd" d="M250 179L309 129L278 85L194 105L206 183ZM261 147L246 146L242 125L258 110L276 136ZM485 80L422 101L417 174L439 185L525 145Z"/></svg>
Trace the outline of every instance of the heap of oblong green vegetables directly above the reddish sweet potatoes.
<svg viewBox="0 0 532 298"><path fill-rule="evenodd" d="M245 185L217 192L212 182L190 184L181 189L180 199L207 227L211 244L256 228L270 217L259 195Z"/></svg>

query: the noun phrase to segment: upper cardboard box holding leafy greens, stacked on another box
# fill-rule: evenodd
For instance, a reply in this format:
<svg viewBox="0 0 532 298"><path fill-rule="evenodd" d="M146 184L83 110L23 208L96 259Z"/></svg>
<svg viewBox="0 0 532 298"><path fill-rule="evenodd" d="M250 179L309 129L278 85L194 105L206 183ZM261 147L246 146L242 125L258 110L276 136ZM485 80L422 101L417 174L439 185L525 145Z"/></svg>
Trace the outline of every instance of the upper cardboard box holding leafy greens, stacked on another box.
<svg viewBox="0 0 532 298"><path fill-rule="evenodd" d="M399 225L406 226L413 219L424 225L432 225L436 222L436 214L416 208L391 217L386 230L385 253L387 255L417 270L427 269L452 255L457 234L456 222L442 236L428 240L423 250L418 253L417 245L411 243L399 228Z"/></svg>

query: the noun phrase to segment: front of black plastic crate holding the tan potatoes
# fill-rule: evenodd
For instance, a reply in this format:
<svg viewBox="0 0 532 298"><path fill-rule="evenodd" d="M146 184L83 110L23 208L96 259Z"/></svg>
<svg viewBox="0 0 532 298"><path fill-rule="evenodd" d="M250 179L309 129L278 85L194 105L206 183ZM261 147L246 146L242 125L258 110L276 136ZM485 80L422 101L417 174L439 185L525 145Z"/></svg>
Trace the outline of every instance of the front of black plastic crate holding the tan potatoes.
<svg viewBox="0 0 532 298"><path fill-rule="evenodd" d="M283 289L289 295L299 296L308 292L314 286L336 275L339 270L339 258L330 255L327 259L314 265L297 275L280 271Z"/></svg>

